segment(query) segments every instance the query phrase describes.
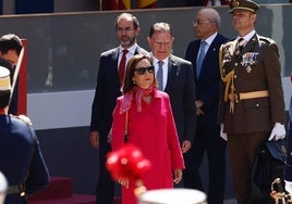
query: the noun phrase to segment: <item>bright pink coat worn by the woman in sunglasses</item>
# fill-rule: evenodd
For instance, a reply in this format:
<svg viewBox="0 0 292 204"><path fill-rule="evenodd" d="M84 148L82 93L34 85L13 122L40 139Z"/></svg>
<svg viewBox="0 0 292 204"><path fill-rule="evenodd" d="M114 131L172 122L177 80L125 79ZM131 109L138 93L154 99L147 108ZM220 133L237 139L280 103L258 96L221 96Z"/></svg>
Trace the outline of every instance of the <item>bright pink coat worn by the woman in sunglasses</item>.
<svg viewBox="0 0 292 204"><path fill-rule="evenodd" d="M112 149L123 145L125 113L120 114L123 97L118 98L113 111ZM143 101L143 100L142 100ZM167 93L156 91L149 104L142 102L142 112L137 112L136 102L132 101L129 111L129 142L141 149L151 163L151 168L143 178L147 190L173 188L173 169L184 168L170 100ZM122 188L122 203L136 204L135 183Z"/></svg>

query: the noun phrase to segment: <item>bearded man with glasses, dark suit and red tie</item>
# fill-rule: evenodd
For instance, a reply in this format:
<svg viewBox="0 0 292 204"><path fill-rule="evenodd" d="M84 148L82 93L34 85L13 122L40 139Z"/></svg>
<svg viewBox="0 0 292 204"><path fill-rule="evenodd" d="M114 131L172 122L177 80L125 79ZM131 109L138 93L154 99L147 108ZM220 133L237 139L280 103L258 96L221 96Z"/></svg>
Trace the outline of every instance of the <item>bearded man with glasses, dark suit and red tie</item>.
<svg viewBox="0 0 292 204"><path fill-rule="evenodd" d="M106 169L106 156L111 151L107 136L111 129L112 112L117 98L121 95L124 75L123 72L120 72L122 69L120 65L121 62L125 63L134 54L148 54L136 43L139 23L135 16L122 13L117 17L114 28L120 46L100 55L97 86L92 106L89 141L94 148L99 149L99 179L96 190L96 203L98 204L111 204L114 195L114 182ZM123 50L126 50L126 53Z"/></svg>

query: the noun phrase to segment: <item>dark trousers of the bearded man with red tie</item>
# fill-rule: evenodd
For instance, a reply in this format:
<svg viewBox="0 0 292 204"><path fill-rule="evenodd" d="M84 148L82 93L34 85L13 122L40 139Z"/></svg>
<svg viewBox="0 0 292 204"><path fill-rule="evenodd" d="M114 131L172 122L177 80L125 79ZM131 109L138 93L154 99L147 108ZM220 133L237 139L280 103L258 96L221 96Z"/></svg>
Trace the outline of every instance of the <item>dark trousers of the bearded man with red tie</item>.
<svg viewBox="0 0 292 204"><path fill-rule="evenodd" d="M106 169L107 154L111 146L107 142L101 142L99 146L99 178L96 188L96 204L112 204L114 196L114 181Z"/></svg>

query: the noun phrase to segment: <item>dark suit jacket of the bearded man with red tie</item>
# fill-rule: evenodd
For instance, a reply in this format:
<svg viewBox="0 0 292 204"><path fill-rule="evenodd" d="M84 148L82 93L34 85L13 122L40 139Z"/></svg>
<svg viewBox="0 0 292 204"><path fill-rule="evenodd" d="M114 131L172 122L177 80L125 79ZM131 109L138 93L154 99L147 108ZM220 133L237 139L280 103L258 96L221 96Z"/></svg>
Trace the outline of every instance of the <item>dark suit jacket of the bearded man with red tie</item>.
<svg viewBox="0 0 292 204"><path fill-rule="evenodd" d="M135 54L148 54L141 47ZM95 98L92 105L90 131L99 131L100 141L106 142L112 123L115 100L121 95L118 73L119 47L100 54Z"/></svg>

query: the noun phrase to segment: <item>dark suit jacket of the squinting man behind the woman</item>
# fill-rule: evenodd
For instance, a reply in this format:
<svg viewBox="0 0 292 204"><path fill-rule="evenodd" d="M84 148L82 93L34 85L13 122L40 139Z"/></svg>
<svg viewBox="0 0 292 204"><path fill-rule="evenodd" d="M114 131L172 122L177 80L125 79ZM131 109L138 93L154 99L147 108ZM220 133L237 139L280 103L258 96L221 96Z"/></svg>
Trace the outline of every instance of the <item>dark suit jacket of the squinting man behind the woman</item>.
<svg viewBox="0 0 292 204"><path fill-rule="evenodd" d="M170 97L180 141L193 141L196 129L195 81L192 63L170 55L165 91Z"/></svg>

